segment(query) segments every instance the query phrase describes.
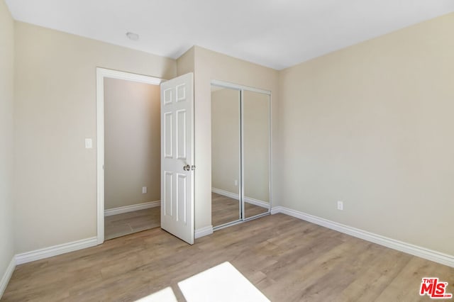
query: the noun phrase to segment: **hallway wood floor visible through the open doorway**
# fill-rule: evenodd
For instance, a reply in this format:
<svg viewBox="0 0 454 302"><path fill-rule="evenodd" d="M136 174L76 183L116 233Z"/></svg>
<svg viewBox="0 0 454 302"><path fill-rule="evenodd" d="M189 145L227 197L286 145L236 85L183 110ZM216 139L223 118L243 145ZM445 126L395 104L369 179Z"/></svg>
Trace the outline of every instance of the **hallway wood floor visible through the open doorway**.
<svg viewBox="0 0 454 302"><path fill-rule="evenodd" d="M161 225L161 207L104 217L104 239L109 240Z"/></svg>

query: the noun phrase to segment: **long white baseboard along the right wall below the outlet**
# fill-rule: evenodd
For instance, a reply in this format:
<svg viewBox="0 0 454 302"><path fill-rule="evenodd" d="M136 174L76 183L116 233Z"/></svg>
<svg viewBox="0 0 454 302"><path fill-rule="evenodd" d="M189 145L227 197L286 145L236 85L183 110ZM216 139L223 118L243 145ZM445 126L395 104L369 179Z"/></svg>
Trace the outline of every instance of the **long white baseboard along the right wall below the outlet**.
<svg viewBox="0 0 454 302"><path fill-rule="evenodd" d="M377 243L377 245L383 245L384 247L389 247L394 250L398 250L410 255L421 257L423 259L428 259L433 262L448 265L448 267L454 267L453 255L443 254L441 252L426 249L425 247L411 245L410 243L394 240L392 238L377 235L375 233L370 233L365 230L352 228L348 225L343 225L341 223L336 223L331 220L327 220L317 216L312 216L306 213L292 210L290 208L285 208L283 206L276 206L272 208L271 213L272 214L283 213L289 216L293 216L295 218L299 218L301 220L309 221L309 223L315 223L316 225L321 225L325 228L331 228L331 230L337 230L338 232L341 233L345 233L354 237L361 238L363 240Z"/></svg>

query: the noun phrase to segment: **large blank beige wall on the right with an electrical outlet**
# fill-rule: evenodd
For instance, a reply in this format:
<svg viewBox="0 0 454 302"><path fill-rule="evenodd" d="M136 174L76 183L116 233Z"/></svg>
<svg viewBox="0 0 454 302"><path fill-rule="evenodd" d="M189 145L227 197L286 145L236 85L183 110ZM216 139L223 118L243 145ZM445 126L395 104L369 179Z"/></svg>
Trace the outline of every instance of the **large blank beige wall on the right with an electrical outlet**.
<svg viewBox="0 0 454 302"><path fill-rule="evenodd" d="M279 73L282 206L454 255L453 28L450 13Z"/></svg>

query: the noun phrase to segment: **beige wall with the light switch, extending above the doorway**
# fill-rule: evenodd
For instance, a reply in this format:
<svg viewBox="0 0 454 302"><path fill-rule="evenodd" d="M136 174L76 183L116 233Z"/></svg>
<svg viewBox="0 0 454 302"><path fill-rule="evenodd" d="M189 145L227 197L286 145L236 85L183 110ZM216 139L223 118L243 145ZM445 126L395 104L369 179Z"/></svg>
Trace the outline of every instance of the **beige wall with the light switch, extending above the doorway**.
<svg viewBox="0 0 454 302"><path fill-rule="evenodd" d="M26 23L15 30L14 228L16 252L28 252L96 236L96 67L171 79L177 66Z"/></svg>

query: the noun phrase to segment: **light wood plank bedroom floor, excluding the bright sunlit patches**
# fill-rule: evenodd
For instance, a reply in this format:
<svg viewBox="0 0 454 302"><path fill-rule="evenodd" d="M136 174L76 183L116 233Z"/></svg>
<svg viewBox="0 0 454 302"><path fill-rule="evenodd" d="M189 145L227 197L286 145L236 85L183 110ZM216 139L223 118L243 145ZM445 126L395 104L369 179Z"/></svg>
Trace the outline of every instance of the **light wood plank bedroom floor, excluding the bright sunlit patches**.
<svg viewBox="0 0 454 302"><path fill-rule="evenodd" d="M421 279L454 293L454 269L283 214L187 245L160 228L16 267L2 301L135 301L223 262L271 301L431 301Z"/></svg>

